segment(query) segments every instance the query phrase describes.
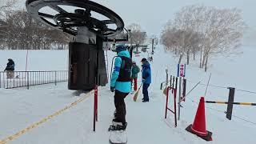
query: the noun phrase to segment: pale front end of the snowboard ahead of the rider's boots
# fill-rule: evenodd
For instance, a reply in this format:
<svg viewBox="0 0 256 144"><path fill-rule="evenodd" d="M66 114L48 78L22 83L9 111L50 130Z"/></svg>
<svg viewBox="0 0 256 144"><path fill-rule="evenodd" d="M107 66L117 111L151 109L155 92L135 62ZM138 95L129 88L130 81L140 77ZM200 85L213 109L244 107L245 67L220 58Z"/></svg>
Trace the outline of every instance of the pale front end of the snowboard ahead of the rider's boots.
<svg viewBox="0 0 256 144"><path fill-rule="evenodd" d="M126 144L126 130L110 130L110 144Z"/></svg>

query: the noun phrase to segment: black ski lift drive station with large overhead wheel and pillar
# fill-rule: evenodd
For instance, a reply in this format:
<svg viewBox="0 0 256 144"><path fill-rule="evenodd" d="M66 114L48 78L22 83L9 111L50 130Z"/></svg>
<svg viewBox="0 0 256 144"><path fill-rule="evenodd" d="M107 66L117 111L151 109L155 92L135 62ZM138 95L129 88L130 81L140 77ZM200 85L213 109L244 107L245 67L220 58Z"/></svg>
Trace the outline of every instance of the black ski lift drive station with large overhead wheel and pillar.
<svg viewBox="0 0 256 144"><path fill-rule="evenodd" d="M26 9L38 21L72 35L69 90L93 90L96 85L106 86L103 46L108 47L108 42L128 42L128 30L125 31L118 14L89 0L27 0Z"/></svg>

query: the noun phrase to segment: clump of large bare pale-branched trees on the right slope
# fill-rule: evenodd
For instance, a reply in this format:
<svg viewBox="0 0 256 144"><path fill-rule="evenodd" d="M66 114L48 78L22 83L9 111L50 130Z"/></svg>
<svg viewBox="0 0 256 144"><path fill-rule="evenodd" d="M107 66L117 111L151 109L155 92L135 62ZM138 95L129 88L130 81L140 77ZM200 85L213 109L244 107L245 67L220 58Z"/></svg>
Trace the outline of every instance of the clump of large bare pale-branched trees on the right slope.
<svg viewBox="0 0 256 144"><path fill-rule="evenodd" d="M162 44L175 54L201 50L200 67L207 70L209 57L216 53L230 54L239 46L246 24L241 10L217 9L206 6L186 6L178 11L173 21L167 22L162 32Z"/></svg>

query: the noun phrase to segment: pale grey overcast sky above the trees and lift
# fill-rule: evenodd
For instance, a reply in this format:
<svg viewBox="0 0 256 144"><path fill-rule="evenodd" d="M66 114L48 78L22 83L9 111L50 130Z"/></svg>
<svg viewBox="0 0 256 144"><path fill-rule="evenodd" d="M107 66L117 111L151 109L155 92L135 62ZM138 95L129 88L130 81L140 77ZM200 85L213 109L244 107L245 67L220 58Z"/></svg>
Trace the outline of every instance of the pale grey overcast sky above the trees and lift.
<svg viewBox="0 0 256 144"><path fill-rule="evenodd" d="M25 7L26 0L20 0ZM256 0L93 0L114 10L125 22L138 23L150 34L160 34L165 23L183 6L200 4L242 10L242 17L250 28L256 27Z"/></svg>

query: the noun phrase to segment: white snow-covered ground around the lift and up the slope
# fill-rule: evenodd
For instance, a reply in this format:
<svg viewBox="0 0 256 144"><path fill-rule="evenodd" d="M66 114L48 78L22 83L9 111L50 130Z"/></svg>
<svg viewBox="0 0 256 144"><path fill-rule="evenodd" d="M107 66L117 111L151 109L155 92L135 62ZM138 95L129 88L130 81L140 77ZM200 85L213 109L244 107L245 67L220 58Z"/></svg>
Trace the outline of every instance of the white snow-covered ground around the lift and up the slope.
<svg viewBox="0 0 256 144"><path fill-rule="evenodd" d="M243 54L234 58L222 56L211 58L207 73L197 68L197 62L192 62L186 67L187 91L199 81L207 83L210 73L210 85L255 91L256 68L253 63L256 61L254 57L256 50L254 47L243 46L242 51ZM67 53L67 50L30 51L29 70L66 70ZM114 53L108 55L111 63ZM142 53L140 57L134 57L134 59L139 63L143 57L147 57L147 54ZM0 51L1 70L4 69L7 58L14 59L16 70L25 70L26 50ZM193 123L198 107L197 102L205 94L206 86L203 85L197 86L187 96L186 102L182 103L181 120L175 128L173 115L168 113L168 118L164 119L166 97L159 88L160 83L166 78L166 68L170 74L177 73L177 58L165 53L162 46L158 46L151 65L153 83L150 86L150 102L142 103L142 94L139 95L138 102L133 102L133 95L126 98L128 143L255 143L253 139L256 135L255 106L234 106L234 116L230 121L224 114L226 105L206 104L206 126L207 130L213 132L212 142L205 142L185 130L186 126ZM110 86L99 88L96 132L93 132L94 99L91 96L38 127L18 135L10 143L108 143L110 134L107 129L114 112L114 94L109 89ZM228 93L229 90L226 88L210 86L205 99L227 101ZM0 142L84 96L85 94L81 94L80 97L74 96L74 91L67 90L66 82L59 83L57 86L51 84L33 86L30 90L0 89ZM234 101L256 102L256 94L236 90ZM170 98L170 106L172 103Z"/></svg>

